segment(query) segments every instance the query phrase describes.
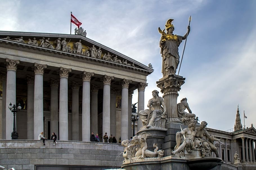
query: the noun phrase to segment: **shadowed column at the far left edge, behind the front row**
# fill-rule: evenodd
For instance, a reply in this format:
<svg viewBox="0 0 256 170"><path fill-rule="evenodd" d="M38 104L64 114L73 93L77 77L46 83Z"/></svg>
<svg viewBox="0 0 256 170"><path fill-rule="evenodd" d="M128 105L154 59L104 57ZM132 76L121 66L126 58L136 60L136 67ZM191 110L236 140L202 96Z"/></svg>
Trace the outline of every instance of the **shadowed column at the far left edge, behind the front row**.
<svg viewBox="0 0 256 170"><path fill-rule="evenodd" d="M6 131L6 73L1 73L1 77L2 77L2 83L3 83L3 108L2 108L2 111L3 111L3 118L2 118L2 138L3 139L6 139L6 134L5 134L5 131ZM8 109L8 108L7 108Z"/></svg>

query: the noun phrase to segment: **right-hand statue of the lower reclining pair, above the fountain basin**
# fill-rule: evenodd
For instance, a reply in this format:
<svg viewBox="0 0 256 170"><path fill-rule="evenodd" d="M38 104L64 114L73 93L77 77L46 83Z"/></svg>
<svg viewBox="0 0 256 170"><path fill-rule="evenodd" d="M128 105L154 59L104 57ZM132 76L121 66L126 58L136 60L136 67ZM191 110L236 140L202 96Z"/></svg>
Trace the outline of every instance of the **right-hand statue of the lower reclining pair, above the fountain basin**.
<svg viewBox="0 0 256 170"><path fill-rule="evenodd" d="M200 127L196 128L195 143L196 140L199 140L200 143L202 144L201 146L198 147L201 148L202 157L212 156L211 153L214 152L216 157L220 158L219 152L217 151L217 148L214 145L214 141L219 141L219 143L221 143L221 139L217 139L214 137L214 135L210 135L205 129L206 125L207 122L202 121ZM206 136L208 140L205 139L204 136Z"/></svg>

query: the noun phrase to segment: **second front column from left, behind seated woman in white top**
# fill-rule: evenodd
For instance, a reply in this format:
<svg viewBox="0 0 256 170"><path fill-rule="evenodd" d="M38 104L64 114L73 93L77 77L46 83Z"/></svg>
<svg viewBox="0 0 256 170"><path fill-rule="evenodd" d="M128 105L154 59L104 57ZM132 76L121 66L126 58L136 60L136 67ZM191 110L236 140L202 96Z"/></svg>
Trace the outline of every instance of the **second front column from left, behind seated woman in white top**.
<svg viewBox="0 0 256 170"><path fill-rule="evenodd" d="M34 139L44 131L44 113L43 113L43 76L46 65L34 64L35 86L34 86Z"/></svg>

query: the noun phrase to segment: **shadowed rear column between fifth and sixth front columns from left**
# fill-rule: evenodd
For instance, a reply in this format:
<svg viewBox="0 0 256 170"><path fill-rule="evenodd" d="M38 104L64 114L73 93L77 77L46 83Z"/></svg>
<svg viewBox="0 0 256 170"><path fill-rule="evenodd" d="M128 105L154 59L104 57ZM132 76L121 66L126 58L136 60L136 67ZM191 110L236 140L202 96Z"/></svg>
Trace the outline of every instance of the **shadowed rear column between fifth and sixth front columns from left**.
<svg viewBox="0 0 256 170"><path fill-rule="evenodd" d="M110 88L110 134L116 136L116 89Z"/></svg>

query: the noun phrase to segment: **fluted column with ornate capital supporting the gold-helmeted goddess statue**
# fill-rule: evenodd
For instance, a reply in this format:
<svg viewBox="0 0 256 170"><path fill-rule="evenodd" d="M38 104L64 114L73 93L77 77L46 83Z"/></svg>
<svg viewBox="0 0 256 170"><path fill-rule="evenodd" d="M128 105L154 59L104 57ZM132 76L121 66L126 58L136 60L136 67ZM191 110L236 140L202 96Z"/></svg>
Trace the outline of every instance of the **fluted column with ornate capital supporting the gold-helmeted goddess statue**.
<svg viewBox="0 0 256 170"><path fill-rule="evenodd" d="M181 85L185 83L185 78L171 74L168 77L161 78L156 83L157 87L161 89L165 100L166 113L168 114L165 125L170 123L182 124L178 118L177 97L179 96L178 91L181 89Z"/></svg>

